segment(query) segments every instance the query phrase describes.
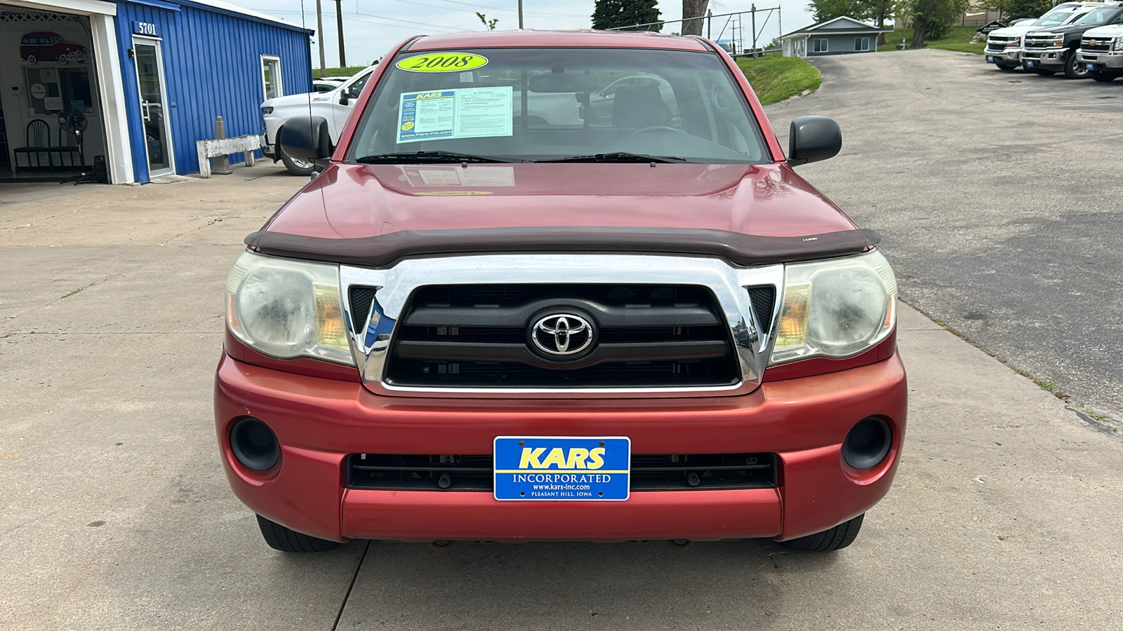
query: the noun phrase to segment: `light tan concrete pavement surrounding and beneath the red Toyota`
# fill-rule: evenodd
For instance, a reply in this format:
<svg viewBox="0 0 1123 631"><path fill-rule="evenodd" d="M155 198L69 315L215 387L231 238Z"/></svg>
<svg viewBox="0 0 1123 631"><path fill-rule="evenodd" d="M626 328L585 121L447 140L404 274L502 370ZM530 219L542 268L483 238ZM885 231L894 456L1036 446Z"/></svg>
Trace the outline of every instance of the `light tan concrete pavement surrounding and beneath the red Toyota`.
<svg viewBox="0 0 1123 631"><path fill-rule="evenodd" d="M274 552L227 487L211 379L241 237L302 182L259 165L0 205L0 629L1120 627L1123 441L906 307L896 485L838 554Z"/></svg>

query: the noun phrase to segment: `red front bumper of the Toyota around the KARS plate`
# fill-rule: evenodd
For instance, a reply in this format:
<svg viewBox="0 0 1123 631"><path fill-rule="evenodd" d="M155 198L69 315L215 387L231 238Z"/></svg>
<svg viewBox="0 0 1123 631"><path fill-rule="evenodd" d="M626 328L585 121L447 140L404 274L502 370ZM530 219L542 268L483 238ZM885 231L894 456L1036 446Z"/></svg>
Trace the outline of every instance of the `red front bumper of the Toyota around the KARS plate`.
<svg viewBox="0 0 1123 631"><path fill-rule="evenodd" d="M900 357L837 373L765 383L751 394L659 400L462 400L378 396L354 382L309 377L223 355L214 415L235 494L293 530L348 539L593 540L792 539L864 513L893 482L905 432ZM893 430L867 470L841 458L859 420ZM267 472L234 457L229 435L253 415L276 433ZM471 491L347 488L348 454L491 454L495 436L627 436L632 454L768 451L770 488L633 492L624 502L499 502Z"/></svg>

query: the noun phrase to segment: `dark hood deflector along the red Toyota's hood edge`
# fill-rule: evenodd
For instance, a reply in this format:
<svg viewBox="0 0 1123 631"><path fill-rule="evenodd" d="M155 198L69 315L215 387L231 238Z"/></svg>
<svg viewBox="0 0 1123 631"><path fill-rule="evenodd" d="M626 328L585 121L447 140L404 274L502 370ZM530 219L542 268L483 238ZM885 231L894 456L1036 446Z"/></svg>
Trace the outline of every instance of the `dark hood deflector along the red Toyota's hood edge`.
<svg viewBox="0 0 1123 631"><path fill-rule="evenodd" d="M274 256L372 267L413 256L560 252L716 256L738 265L763 265L860 254L880 240L880 235L868 229L765 237L700 228L597 226L403 230L355 239L262 230L247 236L246 245Z"/></svg>

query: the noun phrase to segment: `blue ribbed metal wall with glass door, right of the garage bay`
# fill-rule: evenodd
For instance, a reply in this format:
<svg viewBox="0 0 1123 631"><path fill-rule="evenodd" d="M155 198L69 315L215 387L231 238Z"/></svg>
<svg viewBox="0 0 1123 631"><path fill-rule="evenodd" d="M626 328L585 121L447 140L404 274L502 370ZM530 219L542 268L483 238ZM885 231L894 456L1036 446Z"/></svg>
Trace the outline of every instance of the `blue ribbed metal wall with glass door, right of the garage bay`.
<svg viewBox="0 0 1123 631"><path fill-rule="evenodd" d="M266 95L311 91L311 30L210 0L117 7L121 60L135 62L121 71L138 182L198 172L195 140L214 137L216 117L228 137L261 134Z"/></svg>

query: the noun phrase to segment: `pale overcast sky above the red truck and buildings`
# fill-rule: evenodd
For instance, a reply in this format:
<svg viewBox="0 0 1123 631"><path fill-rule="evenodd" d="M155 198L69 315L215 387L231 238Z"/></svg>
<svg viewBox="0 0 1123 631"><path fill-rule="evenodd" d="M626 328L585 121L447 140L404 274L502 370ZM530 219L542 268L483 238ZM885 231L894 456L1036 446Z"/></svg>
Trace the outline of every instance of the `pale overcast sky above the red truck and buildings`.
<svg viewBox="0 0 1123 631"><path fill-rule="evenodd" d="M316 0L226 0L232 4L267 13L292 24L301 24L301 4L304 8L304 25L316 30ZM807 0L711 0L710 9L715 13L747 11L756 3L758 9L779 7L780 20L776 12L760 29L766 13L757 12L758 45L783 33L789 33L812 24L806 10ZM336 0L322 0L323 6L323 52L328 67L339 65L338 37L336 35ZM344 43L347 64L367 65L382 57L395 44L413 35L436 35L459 30L484 30L476 11L489 19L499 18L496 30L519 28L517 0L343 0ZM590 28L593 0L523 0L523 26L538 29ZM681 0L664 0L658 3L664 20L682 18ZM713 19L714 39L719 39L727 18ZM750 31L749 16L741 19L746 33ZM778 24L777 24L778 22ZM667 25L664 33L677 31L679 25ZM704 33L703 33L704 35ZM751 39L751 35L746 35ZM721 38L729 38L729 31ZM750 43L751 44L751 43ZM319 43L313 39L312 65L319 67Z"/></svg>

